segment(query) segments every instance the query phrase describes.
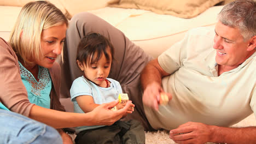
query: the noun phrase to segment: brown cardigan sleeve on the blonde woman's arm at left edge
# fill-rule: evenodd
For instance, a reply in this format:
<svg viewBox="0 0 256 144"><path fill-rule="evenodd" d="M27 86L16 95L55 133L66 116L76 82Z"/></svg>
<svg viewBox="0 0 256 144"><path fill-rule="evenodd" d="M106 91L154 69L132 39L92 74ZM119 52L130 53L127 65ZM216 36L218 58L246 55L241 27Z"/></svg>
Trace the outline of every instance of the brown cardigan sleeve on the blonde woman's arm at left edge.
<svg viewBox="0 0 256 144"><path fill-rule="evenodd" d="M21 81L18 57L10 45L0 38L0 100L10 111L28 116L31 104Z"/></svg>

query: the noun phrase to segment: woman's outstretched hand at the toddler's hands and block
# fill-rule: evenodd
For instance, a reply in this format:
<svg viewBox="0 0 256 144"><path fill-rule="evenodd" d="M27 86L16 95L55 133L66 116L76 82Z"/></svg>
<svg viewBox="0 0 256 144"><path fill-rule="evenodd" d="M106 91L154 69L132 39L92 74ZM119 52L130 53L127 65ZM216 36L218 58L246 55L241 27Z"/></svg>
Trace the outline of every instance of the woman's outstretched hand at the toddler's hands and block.
<svg viewBox="0 0 256 144"><path fill-rule="evenodd" d="M134 106L131 101L127 101L123 109L112 111L112 107L116 106L119 100L112 101L110 103L101 104L97 106L93 111L89 112L91 116L91 125L112 125L114 122L122 118L126 113L132 113L129 111L130 106ZM130 108L131 109L131 108Z"/></svg>

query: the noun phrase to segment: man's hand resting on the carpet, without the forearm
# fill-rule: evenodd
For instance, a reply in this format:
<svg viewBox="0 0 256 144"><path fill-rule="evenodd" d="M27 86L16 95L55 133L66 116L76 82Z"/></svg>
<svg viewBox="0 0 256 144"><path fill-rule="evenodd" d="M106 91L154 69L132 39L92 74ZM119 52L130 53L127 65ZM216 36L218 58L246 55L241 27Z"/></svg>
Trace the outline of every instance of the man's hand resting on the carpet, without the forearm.
<svg viewBox="0 0 256 144"><path fill-rule="evenodd" d="M211 141L210 125L187 122L170 131L170 138L180 144L206 143Z"/></svg>

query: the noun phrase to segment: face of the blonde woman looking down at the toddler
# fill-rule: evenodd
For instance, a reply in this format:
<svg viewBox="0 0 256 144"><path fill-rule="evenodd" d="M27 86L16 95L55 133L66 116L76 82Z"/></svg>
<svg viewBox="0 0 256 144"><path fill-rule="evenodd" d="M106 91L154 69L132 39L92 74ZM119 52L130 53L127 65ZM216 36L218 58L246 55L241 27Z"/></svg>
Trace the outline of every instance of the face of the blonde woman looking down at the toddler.
<svg viewBox="0 0 256 144"><path fill-rule="evenodd" d="M53 26L44 29L41 35L41 49L43 58L36 61L36 64L44 67L51 68L58 55L61 54L64 40L66 38L66 24Z"/></svg>

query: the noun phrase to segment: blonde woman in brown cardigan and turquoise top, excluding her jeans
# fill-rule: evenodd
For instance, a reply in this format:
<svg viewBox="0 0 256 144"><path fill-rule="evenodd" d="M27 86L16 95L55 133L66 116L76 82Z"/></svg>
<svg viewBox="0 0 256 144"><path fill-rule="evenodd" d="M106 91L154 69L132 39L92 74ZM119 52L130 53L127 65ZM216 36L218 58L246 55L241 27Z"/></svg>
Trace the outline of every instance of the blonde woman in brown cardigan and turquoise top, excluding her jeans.
<svg viewBox="0 0 256 144"><path fill-rule="evenodd" d="M124 109L110 111L118 104L114 101L89 113L63 112L59 101L60 65L55 59L62 52L67 26L65 15L49 2L30 2L22 8L10 43L0 39L0 104L58 129L63 142L72 143L61 128L111 125L130 113L127 109L132 105L129 101Z"/></svg>

